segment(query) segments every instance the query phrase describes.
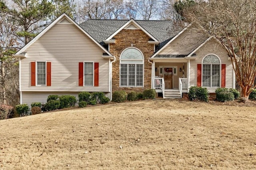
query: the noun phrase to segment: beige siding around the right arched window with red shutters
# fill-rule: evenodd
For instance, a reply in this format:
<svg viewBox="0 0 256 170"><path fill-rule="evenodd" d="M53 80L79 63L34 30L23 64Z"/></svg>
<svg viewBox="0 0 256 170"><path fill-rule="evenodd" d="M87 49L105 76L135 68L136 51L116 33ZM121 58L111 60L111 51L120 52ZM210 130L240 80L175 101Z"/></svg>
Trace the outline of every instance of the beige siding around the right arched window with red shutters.
<svg viewBox="0 0 256 170"><path fill-rule="evenodd" d="M190 60L190 87L197 85L197 64L201 64L202 59L208 54L217 55L220 58L221 64L226 64L226 88L233 88L233 66L231 60L228 60L226 50L214 40L207 42L196 51L197 59ZM215 89L208 87L210 93L215 93Z"/></svg>

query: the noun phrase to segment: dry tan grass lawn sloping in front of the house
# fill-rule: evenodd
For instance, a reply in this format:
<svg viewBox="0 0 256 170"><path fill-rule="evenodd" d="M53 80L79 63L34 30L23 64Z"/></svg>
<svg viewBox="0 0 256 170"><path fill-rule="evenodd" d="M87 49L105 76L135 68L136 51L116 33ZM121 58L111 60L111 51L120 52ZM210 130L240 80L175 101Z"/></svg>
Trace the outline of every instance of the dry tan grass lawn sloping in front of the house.
<svg viewBox="0 0 256 170"><path fill-rule="evenodd" d="M3 120L0 130L1 169L256 168L256 107L138 101Z"/></svg>

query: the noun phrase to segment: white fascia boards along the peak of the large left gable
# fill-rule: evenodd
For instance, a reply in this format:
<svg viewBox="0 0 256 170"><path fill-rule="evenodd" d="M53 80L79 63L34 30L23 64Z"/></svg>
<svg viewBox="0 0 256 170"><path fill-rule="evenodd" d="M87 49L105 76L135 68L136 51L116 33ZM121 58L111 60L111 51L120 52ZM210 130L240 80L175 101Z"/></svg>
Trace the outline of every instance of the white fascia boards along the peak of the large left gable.
<svg viewBox="0 0 256 170"><path fill-rule="evenodd" d="M55 24L60 22L64 17L66 17L67 20L72 22L75 26L77 26L86 36L88 36L94 43L96 43L101 49L103 49L108 55L112 55L110 52L108 52L100 43L98 43L90 34L88 34L84 29L82 29L72 18L70 18L66 13L63 13L61 16L59 16L56 20L54 20L50 25L48 25L42 32L40 32L35 38L33 38L29 43L27 43L22 49L20 49L16 54L20 54L24 52L30 45L32 45L36 40L38 40L42 35L44 35L50 28L52 28Z"/></svg>

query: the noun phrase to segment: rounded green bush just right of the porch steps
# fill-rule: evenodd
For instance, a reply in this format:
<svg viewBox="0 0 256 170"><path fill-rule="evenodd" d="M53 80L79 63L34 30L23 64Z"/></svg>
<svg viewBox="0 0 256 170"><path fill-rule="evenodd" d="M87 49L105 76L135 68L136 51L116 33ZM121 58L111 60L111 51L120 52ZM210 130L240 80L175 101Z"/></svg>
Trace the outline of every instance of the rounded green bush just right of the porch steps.
<svg viewBox="0 0 256 170"><path fill-rule="evenodd" d="M209 101L209 94L205 87L192 86L188 91L188 98L192 100Z"/></svg>

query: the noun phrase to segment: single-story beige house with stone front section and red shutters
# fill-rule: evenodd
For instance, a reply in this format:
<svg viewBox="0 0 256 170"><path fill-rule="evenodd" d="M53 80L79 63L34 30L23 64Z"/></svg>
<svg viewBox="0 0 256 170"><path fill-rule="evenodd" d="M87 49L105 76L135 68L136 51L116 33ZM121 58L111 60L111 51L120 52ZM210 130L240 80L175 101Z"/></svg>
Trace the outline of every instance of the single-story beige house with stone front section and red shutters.
<svg viewBox="0 0 256 170"><path fill-rule="evenodd" d="M181 97L189 87L234 88L225 49L191 25L175 32L168 21L87 20L62 14L14 56L20 58L20 103L81 91L156 89Z"/></svg>

